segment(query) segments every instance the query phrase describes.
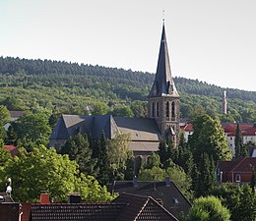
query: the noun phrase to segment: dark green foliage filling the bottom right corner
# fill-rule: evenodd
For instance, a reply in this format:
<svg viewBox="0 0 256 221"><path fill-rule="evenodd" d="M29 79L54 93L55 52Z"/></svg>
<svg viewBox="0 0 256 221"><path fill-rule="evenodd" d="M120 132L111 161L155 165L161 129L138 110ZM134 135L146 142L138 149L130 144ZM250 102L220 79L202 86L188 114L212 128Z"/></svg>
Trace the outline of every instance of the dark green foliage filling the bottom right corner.
<svg viewBox="0 0 256 221"><path fill-rule="evenodd" d="M223 204L230 210L232 221L256 220L256 193L248 185L223 185L212 192L222 198Z"/></svg>

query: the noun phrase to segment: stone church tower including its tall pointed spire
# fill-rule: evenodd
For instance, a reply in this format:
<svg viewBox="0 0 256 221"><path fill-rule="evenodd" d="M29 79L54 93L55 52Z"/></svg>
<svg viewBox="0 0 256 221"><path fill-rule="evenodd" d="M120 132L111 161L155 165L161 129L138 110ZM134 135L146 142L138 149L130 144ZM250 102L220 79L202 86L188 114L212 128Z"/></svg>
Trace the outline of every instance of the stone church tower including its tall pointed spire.
<svg viewBox="0 0 256 221"><path fill-rule="evenodd" d="M149 117L156 119L162 138L179 142L179 94L171 77L169 56L164 28L160 38L160 54L155 82L149 94Z"/></svg>

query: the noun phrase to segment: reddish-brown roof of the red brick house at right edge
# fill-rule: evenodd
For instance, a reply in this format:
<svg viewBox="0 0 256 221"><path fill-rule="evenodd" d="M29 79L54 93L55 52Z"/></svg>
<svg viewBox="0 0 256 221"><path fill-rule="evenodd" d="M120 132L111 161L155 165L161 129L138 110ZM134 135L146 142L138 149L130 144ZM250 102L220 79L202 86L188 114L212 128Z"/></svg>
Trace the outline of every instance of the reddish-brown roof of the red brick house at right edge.
<svg viewBox="0 0 256 221"><path fill-rule="evenodd" d="M219 161L218 167L223 172L251 173L256 168L256 157L240 157L232 161Z"/></svg>

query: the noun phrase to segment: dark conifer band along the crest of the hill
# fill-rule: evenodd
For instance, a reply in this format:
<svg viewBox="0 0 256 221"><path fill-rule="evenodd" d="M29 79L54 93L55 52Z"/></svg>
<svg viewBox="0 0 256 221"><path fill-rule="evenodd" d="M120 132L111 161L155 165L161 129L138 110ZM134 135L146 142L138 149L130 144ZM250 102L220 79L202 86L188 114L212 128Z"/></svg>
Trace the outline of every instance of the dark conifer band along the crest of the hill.
<svg viewBox="0 0 256 221"><path fill-rule="evenodd" d="M142 87L149 89L154 81L154 75L143 72L132 72L131 70L106 68L102 66L79 65L78 63L68 63L51 60L29 60L12 57L0 57L0 73L15 75L17 73L38 76L38 80L47 77L48 81L42 82L45 85L58 83L57 80L63 76L72 76L73 83L77 80L84 86L92 82L112 83L115 85L126 84L127 86ZM62 77L62 78L61 78ZM82 79L83 77L83 79ZM30 78L29 78L30 79ZM63 79L62 79L63 80ZM67 79L66 81L68 81ZM36 81L36 79L35 79ZM66 83L66 81L62 83ZM69 83L72 83L69 82ZM75 81L75 82L74 82ZM198 80L185 78L174 78L174 82L179 91L189 94L222 96L224 89L228 90L228 97L240 98L256 102L256 91L246 91L235 88L224 88L214 84L203 83ZM1 83L3 83L1 81Z"/></svg>

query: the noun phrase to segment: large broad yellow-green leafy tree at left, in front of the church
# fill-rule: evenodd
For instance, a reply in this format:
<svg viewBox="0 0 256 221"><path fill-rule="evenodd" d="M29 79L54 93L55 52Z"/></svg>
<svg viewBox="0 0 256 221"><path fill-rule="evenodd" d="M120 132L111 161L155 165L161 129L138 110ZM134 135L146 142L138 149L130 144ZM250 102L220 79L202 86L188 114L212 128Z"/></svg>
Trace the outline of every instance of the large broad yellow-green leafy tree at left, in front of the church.
<svg viewBox="0 0 256 221"><path fill-rule="evenodd" d="M78 164L54 148L40 145L31 152L21 149L19 157L8 159L1 181L12 178L13 197L17 201L35 202L42 190L48 190L54 201L67 200L67 194L79 192L89 201L110 200L110 193L93 177L79 174ZM101 198L102 197L102 198Z"/></svg>

